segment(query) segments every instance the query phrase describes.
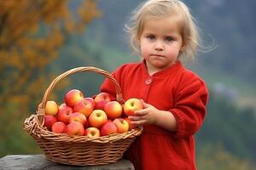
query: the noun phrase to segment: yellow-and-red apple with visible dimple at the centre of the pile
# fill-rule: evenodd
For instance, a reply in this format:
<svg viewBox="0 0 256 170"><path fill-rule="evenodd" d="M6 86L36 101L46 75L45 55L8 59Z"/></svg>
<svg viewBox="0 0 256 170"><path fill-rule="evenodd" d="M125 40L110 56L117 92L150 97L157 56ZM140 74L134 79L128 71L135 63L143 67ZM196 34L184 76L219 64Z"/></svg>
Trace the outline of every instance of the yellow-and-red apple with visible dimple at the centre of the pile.
<svg viewBox="0 0 256 170"><path fill-rule="evenodd" d="M94 110L89 116L90 127L100 128L102 125L108 121L107 114L102 110Z"/></svg>

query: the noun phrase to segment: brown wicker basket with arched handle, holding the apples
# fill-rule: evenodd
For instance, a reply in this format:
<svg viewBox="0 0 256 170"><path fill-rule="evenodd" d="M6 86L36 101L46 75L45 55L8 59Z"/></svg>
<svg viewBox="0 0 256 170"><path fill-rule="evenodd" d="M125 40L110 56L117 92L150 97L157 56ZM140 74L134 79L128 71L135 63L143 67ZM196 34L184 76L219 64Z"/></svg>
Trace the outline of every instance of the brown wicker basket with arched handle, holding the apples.
<svg viewBox="0 0 256 170"><path fill-rule="evenodd" d="M126 133L111 134L98 138L86 136L70 137L66 133L49 132L44 127L45 106L52 89L63 78L81 71L93 71L108 77L116 88L117 101L123 101L119 83L108 71L103 71L96 67L74 68L62 73L50 83L49 88L44 93L41 108L38 108L36 115L26 118L24 129L37 141L39 147L44 150L45 156L50 161L75 166L103 165L117 162L123 157L125 150L136 137L142 133L142 127L132 129Z"/></svg>

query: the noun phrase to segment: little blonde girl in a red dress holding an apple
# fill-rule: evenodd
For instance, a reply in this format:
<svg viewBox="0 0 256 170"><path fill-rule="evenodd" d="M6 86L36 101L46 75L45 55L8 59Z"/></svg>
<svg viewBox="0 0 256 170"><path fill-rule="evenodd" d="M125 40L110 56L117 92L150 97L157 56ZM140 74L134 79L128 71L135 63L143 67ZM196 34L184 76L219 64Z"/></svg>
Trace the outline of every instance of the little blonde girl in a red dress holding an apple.
<svg viewBox="0 0 256 170"><path fill-rule="evenodd" d="M178 0L149 0L126 28L143 61L121 65L113 77L123 98L142 99L144 109L129 117L143 133L125 156L137 170L196 169L194 134L204 121L208 92L181 62L193 58L199 45L189 8ZM108 79L101 90L115 97Z"/></svg>

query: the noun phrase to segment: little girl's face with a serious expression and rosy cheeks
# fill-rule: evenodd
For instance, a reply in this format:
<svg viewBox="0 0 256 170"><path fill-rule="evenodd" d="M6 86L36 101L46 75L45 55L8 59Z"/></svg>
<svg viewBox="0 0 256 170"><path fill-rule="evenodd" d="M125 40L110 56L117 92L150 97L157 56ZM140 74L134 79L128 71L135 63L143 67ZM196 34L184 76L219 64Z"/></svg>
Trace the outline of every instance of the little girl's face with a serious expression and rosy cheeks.
<svg viewBox="0 0 256 170"><path fill-rule="evenodd" d="M170 18L146 20L139 43L149 74L173 65L183 50L183 38L177 21Z"/></svg>

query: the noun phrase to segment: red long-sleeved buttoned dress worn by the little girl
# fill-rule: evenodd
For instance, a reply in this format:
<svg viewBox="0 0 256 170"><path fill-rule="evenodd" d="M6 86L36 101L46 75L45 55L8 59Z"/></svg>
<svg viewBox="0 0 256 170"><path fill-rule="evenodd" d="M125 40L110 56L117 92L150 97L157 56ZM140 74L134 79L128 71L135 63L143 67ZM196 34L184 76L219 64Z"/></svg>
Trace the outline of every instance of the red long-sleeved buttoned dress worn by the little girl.
<svg viewBox="0 0 256 170"><path fill-rule="evenodd" d="M143 99L159 110L171 111L177 119L177 132L155 125L143 127L142 135L125 153L136 170L196 169L193 135L206 115L206 83L180 61L153 76L148 75L144 61L121 65L113 77L119 82L125 100ZM103 82L101 91L115 98L110 80Z"/></svg>

